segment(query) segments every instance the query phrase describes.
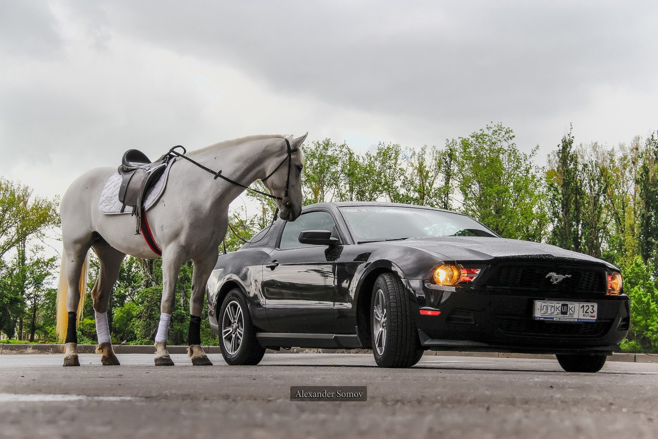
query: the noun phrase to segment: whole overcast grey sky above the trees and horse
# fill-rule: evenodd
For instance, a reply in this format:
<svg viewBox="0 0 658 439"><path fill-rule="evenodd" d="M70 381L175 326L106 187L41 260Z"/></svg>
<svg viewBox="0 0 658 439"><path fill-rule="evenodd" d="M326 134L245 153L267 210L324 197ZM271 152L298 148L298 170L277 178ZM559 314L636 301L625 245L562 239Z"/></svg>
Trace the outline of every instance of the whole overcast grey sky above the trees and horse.
<svg viewBox="0 0 658 439"><path fill-rule="evenodd" d="M569 123L614 146L658 129L657 22L653 1L0 0L0 176L53 196L128 148L365 152L490 122L540 162Z"/></svg>

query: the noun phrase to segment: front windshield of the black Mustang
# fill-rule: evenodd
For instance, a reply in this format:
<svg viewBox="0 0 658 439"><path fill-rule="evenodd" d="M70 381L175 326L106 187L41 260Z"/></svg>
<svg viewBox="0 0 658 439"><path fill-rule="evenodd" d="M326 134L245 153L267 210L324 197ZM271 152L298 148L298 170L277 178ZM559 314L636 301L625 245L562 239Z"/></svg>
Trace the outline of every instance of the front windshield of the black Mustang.
<svg viewBox="0 0 658 439"><path fill-rule="evenodd" d="M478 221L452 212L396 206L349 206L339 210L357 243L412 237L495 237Z"/></svg>

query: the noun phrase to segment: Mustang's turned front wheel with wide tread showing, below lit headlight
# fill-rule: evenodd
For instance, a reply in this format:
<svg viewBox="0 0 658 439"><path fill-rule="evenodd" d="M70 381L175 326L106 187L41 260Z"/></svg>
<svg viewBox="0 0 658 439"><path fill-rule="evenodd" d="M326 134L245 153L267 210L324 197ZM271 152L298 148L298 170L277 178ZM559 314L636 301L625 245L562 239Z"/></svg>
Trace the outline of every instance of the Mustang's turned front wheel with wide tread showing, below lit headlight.
<svg viewBox="0 0 658 439"><path fill-rule="evenodd" d="M422 356L411 300L402 281L392 273L380 275L370 299L372 353L380 367L411 367Z"/></svg>

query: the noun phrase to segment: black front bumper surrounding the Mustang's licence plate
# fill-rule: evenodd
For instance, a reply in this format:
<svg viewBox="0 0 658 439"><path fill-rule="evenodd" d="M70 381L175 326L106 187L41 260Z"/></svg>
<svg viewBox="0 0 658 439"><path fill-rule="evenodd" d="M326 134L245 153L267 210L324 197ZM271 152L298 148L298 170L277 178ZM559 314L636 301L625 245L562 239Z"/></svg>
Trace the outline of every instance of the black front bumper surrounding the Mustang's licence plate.
<svg viewBox="0 0 658 439"><path fill-rule="evenodd" d="M527 293L519 289L441 287L409 279L418 308L440 310L417 314L420 344L433 350L518 353L611 353L628 334L628 296L601 294L567 297L564 293ZM595 322L534 320L534 301L597 303Z"/></svg>

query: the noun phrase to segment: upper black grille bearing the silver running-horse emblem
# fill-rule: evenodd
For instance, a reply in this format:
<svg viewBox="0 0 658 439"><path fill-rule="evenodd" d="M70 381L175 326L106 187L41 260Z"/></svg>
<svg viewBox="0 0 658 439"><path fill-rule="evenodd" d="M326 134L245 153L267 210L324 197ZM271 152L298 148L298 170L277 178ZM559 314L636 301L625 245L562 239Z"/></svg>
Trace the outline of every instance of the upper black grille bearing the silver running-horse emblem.
<svg viewBox="0 0 658 439"><path fill-rule="evenodd" d="M559 283L552 283L547 278L549 273L565 278ZM492 267L492 274L486 279L485 285L494 288L605 293L605 270L558 264L500 264Z"/></svg>

